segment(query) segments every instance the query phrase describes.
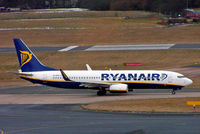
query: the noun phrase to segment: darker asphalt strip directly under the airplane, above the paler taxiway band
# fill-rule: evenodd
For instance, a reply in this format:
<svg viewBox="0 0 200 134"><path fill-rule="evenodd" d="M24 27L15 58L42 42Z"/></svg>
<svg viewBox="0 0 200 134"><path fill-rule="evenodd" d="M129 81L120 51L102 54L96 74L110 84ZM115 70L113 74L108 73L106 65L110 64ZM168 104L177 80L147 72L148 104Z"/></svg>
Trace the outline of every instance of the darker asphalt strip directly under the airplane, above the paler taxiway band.
<svg viewBox="0 0 200 134"><path fill-rule="evenodd" d="M134 94L170 94L170 89L135 89L133 92L129 92L129 95ZM91 89L65 89L65 88L56 88L56 87L49 87L43 86L40 84L32 84L31 86L10 86L10 87L0 87L0 95L3 94L64 94L64 95L75 95L75 94L82 94L82 95L96 95L96 90ZM200 89L188 89L183 88L179 93L191 93L200 92ZM119 95L119 94L116 94ZM124 94L125 96L127 94Z"/></svg>

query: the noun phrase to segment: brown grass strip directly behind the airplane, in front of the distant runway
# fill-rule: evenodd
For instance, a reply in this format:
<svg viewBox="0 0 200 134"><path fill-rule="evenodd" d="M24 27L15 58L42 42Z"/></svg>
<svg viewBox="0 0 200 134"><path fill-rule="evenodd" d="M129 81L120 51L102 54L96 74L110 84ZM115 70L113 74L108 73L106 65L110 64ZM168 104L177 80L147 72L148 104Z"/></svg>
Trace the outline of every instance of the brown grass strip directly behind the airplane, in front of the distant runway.
<svg viewBox="0 0 200 134"><path fill-rule="evenodd" d="M51 52L36 53L45 65L57 69L86 70L85 64L95 70L105 67L113 70L171 69L192 65L199 62L199 50L155 50L155 51L112 51L112 52ZM126 67L124 63L141 62L140 67ZM18 60L16 54L0 54L0 81L23 81L18 76L8 73L16 72ZM200 77L192 78L191 88L200 88ZM9 84L9 83L8 83ZM5 85L5 84L3 84ZM0 84L1 86L1 84Z"/></svg>

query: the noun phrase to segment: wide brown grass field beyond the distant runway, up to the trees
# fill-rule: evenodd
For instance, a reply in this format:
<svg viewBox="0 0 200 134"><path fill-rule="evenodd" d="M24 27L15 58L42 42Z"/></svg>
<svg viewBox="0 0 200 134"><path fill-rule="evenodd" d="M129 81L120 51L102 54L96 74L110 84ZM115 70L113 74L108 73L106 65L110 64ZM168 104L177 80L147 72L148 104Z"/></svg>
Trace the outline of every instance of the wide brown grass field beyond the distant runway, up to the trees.
<svg viewBox="0 0 200 134"><path fill-rule="evenodd" d="M37 17L34 18L34 16ZM156 15L149 12L135 11L0 14L0 47L13 47L12 39L16 37L22 38L29 46L200 42L199 24L166 28L157 24L160 21L158 19L126 20L123 18L124 16ZM48 27L54 29L48 29ZM47 29L6 30L6 28Z"/></svg>

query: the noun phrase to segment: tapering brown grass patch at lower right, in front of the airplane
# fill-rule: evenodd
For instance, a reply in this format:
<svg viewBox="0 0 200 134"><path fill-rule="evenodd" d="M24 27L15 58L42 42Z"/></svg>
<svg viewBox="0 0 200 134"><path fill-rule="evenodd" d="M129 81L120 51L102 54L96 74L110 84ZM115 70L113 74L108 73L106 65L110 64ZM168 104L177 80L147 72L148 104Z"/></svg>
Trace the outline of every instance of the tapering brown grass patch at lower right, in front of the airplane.
<svg viewBox="0 0 200 134"><path fill-rule="evenodd" d="M82 107L87 110L110 112L200 112L199 106L194 110L192 106L186 105L187 101L200 101L200 98L110 101Z"/></svg>

